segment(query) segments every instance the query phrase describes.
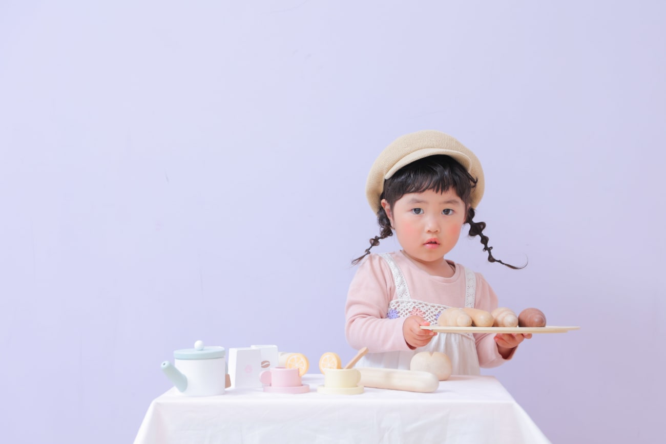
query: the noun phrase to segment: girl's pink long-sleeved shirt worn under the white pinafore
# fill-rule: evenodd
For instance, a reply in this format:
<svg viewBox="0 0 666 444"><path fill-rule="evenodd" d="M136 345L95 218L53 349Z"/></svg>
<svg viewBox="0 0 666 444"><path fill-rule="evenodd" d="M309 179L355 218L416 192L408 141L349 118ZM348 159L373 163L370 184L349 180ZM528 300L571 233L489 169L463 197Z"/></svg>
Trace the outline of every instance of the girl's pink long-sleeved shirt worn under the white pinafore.
<svg viewBox="0 0 666 444"><path fill-rule="evenodd" d="M433 276L418 268L402 252L392 253L404 274L413 300L450 307L465 306L465 272L460 264L454 276ZM491 312L498 298L484 277L476 275L475 308ZM356 271L347 294L345 334L348 343L356 348L368 347L370 353L409 350L402 334L405 318L387 318L388 304L396 296L393 274L384 258L378 254L366 256ZM481 367L496 367L511 359L501 357L491 333L475 333L476 351ZM515 351L515 349L514 349Z"/></svg>

